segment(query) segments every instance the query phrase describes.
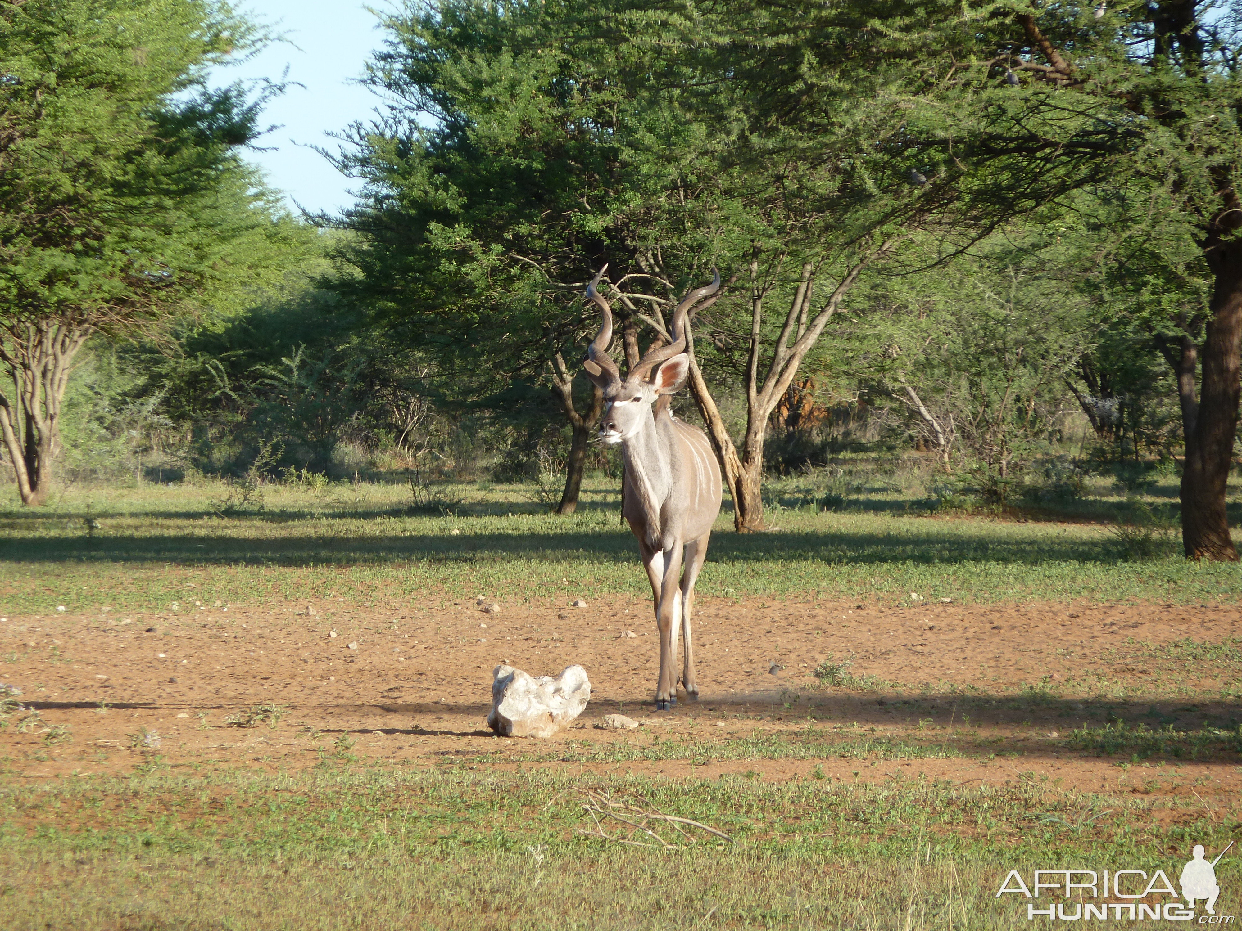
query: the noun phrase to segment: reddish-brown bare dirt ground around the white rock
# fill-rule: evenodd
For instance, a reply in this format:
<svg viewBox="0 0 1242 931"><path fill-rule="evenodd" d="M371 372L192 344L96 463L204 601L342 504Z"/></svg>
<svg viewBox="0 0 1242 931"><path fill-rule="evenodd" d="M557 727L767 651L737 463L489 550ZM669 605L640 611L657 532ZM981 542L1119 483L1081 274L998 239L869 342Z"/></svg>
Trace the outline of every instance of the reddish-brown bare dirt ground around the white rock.
<svg viewBox="0 0 1242 931"><path fill-rule="evenodd" d="M343 752L334 741L348 732L345 742L356 741L349 749L354 756L428 767L478 765L481 755L491 755L482 765L699 778L748 772L789 780L820 767L830 778L924 775L966 783L1007 782L1033 771L1081 791L1133 786L1195 792L1207 802L1242 791L1236 760L1153 761L1138 773L1117 758L1067 751L1061 740L1073 727L1117 719L1179 729L1236 724L1240 701L1212 700L1220 684L1197 680L1192 664L1161 665L1159 654L1146 663L1119 659L1129 638L1156 648L1187 638L1238 638L1236 607L897 608L703 598L694 619L702 700L657 715L651 695L658 638L650 602L631 598L585 608L550 600L502 603L489 614L473 598L428 597L425 606L389 608L337 598L247 607L199 606L191 592L171 613L10 616L0 622L0 681L20 688L42 722L26 732L0 730L0 763L31 781L132 772L153 755L130 745L156 731L161 765L174 768L294 770ZM868 688L820 685L814 678L817 664L843 655L852 658L852 674L874 677ZM501 662L534 675L584 665L592 696L578 725L553 741L492 736L484 717L492 669ZM1113 698L1076 693L1074 683L1088 675L1112 683ZM1144 688L1160 675L1180 677L1191 691ZM282 720L226 726L226 717L260 704L286 709ZM595 727L615 711L643 726ZM955 746L964 756L717 760L708 750L676 760L558 757L558 747L581 756L584 746L610 744L719 744L809 724L825 740L887 737ZM61 742L47 736L56 725L68 727Z"/></svg>

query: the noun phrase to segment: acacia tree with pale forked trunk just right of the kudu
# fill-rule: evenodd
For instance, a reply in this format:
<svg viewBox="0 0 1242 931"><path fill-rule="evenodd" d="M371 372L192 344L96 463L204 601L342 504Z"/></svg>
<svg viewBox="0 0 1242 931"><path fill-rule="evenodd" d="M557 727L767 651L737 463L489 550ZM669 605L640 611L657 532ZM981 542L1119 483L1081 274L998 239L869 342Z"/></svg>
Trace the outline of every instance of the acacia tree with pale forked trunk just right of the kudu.
<svg viewBox="0 0 1242 931"><path fill-rule="evenodd" d="M733 497L735 529L763 530L773 411L854 286L888 264L910 232L928 228L944 201L915 192L904 169L867 142L883 134L889 114L858 106L876 84L852 46L814 63L852 68L856 81L809 84L805 57L784 37L766 38L756 11L738 7L734 22L732 5L622 7L584 14L576 25L590 41L575 47L582 56L592 55L591 42L625 48L643 67L615 79L643 82L647 92L635 98L687 128L677 145L658 135L631 143L648 173L667 179L646 192L651 226L637 259L664 303L676 299L674 283L702 277L696 267L714 263L727 278L714 307L697 312L689 389ZM810 92L823 119L806 118ZM630 297L657 303L650 293ZM663 334L662 319L643 319ZM737 439L709 380L745 397Z"/></svg>

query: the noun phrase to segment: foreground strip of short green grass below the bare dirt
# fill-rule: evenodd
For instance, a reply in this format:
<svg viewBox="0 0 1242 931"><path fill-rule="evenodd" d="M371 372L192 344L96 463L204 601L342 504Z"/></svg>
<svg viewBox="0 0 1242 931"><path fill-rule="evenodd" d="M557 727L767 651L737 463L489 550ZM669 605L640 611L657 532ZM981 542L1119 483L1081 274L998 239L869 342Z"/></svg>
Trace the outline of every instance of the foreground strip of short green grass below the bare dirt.
<svg viewBox="0 0 1242 931"><path fill-rule="evenodd" d="M597 833L592 789L727 833ZM1237 809L1226 813L1236 821ZM605 822L610 837L623 825ZM359 768L0 783L11 929L994 929L1010 869L1176 875L1228 828L1195 798L728 777ZM1237 910L1236 860L1217 911Z"/></svg>

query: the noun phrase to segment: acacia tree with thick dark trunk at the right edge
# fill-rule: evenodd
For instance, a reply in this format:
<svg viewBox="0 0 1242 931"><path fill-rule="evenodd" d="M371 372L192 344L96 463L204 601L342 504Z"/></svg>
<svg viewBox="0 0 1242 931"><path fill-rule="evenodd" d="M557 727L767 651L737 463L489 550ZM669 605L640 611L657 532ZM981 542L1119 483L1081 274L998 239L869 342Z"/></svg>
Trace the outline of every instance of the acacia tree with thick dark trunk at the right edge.
<svg viewBox="0 0 1242 931"><path fill-rule="evenodd" d="M1175 351L1159 340L1177 377L1182 411L1182 542L1192 559L1236 561L1225 497L1242 349L1242 22L1213 6L1176 0L1100 7L1082 51L1082 11L1022 12L1015 26L1030 50L1023 61L1062 89L1056 96L1087 97L1097 122L1110 117L1117 124L1109 135L1133 140L1125 158L1115 159L1131 190L1171 207L1182 240L1199 248L1211 281L1206 308L1166 322L1163 329L1174 324L1180 336Z"/></svg>

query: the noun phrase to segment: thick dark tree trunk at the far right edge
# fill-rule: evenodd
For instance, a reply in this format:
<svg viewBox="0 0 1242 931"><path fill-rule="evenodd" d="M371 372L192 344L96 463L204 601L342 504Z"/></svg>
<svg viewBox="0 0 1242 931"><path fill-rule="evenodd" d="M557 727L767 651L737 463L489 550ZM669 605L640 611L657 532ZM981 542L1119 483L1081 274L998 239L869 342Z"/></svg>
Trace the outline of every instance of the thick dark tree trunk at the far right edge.
<svg viewBox="0 0 1242 931"><path fill-rule="evenodd" d="M1215 236L1205 252L1216 281L1203 336L1199 410L1192 427L1186 425L1181 539L1190 559L1236 562L1238 552L1230 537L1225 493L1233 464L1238 417L1242 242ZM1185 391L1181 395L1185 410Z"/></svg>

